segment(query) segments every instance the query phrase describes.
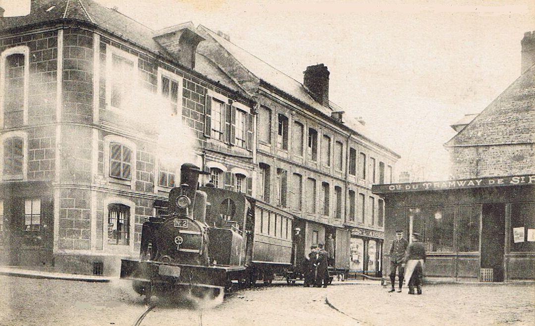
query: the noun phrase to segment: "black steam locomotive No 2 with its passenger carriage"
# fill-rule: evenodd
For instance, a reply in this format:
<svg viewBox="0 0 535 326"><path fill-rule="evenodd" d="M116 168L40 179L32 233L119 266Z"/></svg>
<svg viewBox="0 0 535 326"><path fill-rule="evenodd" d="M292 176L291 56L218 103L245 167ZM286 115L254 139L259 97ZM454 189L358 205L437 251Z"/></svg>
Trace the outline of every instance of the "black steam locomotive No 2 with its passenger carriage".
<svg viewBox="0 0 535 326"><path fill-rule="evenodd" d="M217 296L233 281L271 283L275 274L288 283L301 279L308 253L303 222L242 193L198 187L204 173L193 164L181 166L169 215L143 223L140 257L121 260L120 277L133 280L134 290L147 298L184 290L205 295L207 289ZM348 245L338 242L332 274L347 271Z"/></svg>

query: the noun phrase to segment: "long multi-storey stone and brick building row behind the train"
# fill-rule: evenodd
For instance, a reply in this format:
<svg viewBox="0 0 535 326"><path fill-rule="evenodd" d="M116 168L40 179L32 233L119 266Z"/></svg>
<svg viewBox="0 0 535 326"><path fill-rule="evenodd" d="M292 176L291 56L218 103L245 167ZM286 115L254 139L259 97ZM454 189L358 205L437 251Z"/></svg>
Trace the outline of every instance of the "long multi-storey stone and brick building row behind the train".
<svg viewBox="0 0 535 326"><path fill-rule="evenodd" d="M202 183L291 210L311 242L353 234L350 268L380 270L370 188L399 156L342 122L326 67L303 85L208 28L152 31L91 0L32 0L0 42L3 264L116 273L193 161Z"/></svg>

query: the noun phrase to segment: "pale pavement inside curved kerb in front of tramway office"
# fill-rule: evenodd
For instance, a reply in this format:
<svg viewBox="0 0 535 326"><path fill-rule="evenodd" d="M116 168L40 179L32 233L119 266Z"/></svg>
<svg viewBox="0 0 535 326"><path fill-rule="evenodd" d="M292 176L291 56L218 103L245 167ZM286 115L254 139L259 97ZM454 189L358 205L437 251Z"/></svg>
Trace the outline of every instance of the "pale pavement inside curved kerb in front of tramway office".
<svg viewBox="0 0 535 326"><path fill-rule="evenodd" d="M369 325L535 325L535 285L425 285L422 295L380 285L327 288L327 304Z"/></svg>

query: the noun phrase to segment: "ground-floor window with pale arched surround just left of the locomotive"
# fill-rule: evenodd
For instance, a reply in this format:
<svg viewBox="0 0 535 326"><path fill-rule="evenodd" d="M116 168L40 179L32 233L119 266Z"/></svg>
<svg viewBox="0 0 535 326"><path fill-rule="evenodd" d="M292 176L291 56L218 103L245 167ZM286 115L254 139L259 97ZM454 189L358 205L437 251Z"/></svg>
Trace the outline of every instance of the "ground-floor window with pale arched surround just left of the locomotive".
<svg viewBox="0 0 535 326"><path fill-rule="evenodd" d="M123 204L108 205L108 243L128 245L130 208Z"/></svg>

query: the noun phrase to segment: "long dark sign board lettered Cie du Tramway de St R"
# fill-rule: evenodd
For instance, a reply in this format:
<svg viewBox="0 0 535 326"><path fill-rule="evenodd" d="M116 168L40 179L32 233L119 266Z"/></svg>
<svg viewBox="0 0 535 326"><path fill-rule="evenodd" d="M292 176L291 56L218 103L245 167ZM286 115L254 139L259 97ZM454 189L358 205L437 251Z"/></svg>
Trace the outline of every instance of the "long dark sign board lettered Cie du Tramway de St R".
<svg viewBox="0 0 535 326"><path fill-rule="evenodd" d="M535 185L535 175L373 185L373 193Z"/></svg>

